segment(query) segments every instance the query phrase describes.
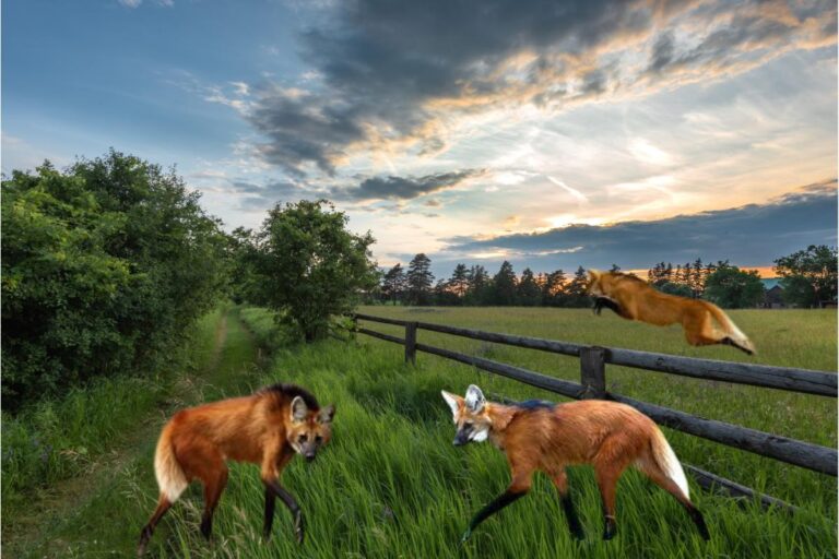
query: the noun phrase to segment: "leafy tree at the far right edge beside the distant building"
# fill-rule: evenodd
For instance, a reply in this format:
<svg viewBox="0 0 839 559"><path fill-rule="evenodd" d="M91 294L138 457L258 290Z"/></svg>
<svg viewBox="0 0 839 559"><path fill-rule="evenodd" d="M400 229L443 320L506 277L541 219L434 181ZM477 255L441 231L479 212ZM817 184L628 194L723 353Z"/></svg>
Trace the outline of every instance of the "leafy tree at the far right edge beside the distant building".
<svg viewBox="0 0 839 559"><path fill-rule="evenodd" d="M811 245L775 261L782 276L784 300L802 307L835 301L837 295L837 250L826 245Z"/></svg>

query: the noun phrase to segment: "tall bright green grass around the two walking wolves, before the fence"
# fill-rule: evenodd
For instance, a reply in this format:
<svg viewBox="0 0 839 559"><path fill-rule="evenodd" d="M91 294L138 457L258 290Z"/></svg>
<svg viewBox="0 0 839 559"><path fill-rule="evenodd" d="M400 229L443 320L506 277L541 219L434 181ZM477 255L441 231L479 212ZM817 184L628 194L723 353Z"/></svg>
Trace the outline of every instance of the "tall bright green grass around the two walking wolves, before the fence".
<svg viewBox="0 0 839 559"><path fill-rule="evenodd" d="M405 366L401 352L365 338L276 353L270 380L300 383L322 404L338 406L333 442L314 464L294 461L283 478L308 521L303 547L294 543L282 507L273 539L260 540L263 489L257 469L234 465L216 514L215 540L208 545L201 539L201 500L188 498L165 522L172 532L166 542L157 540L157 552L256 558L835 556L832 480L799 485L802 510L793 516L692 486L712 534L705 543L672 497L630 471L618 488L619 535L603 543L600 497L588 467L570 468L588 533L584 543L569 537L552 485L537 476L529 497L485 522L460 546L470 518L505 489L509 475L503 454L489 444L452 447L454 428L440 389L462 392L474 382L512 397L546 394L425 355L418 367ZM706 450L694 444L690 438L674 442L680 455L701 457ZM749 473L744 481L765 476ZM144 503L153 507L152 497Z"/></svg>

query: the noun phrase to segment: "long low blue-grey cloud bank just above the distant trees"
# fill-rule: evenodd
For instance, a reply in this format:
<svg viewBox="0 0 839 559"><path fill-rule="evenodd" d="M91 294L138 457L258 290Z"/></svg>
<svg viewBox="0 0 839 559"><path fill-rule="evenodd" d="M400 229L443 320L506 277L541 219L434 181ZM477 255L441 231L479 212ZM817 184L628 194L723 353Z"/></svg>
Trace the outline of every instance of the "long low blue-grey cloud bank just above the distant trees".
<svg viewBox="0 0 839 559"><path fill-rule="evenodd" d="M510 260L534 269L554 266L625 269L654 262L685 262L697 257L747 266L772 260L807 245L837 242L836 180L811 185L766 204L702 212L654 222L613 226L571 225L545 233L475 240L450 240L446 252L469 254L506 251ZM581 247L581 248L580 248ZM572 252L556 252L572 251Z"/></svg>

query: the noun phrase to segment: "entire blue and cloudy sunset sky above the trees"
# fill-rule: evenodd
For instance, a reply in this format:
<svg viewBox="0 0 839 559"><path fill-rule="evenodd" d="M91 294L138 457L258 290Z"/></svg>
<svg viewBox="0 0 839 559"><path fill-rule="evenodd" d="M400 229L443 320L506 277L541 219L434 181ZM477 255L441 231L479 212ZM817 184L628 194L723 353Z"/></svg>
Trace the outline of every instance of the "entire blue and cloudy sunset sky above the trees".
<svg viewBox="0 0 839 559"><path fill-rule="evenodd" d="M114 147L438 277L837 243L835 1L5 0L2 171Z"/></svg>

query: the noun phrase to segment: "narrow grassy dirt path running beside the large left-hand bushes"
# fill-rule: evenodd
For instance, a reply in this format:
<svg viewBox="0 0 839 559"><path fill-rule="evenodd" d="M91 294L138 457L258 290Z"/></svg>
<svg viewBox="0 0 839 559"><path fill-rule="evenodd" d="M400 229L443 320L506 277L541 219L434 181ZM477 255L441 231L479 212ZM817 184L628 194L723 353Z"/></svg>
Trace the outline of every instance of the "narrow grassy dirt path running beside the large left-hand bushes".
<svg viewBox="0 0 839 559"><path fill-rule="evenodd" d="M228 324L228 320L232 324ZM228 340L231 331L235 340ZM186 374L175 382L172 391L177 396L175 401L199 402L208 393L224 393L227 385L240 383L234 377L235 373L252 368L256 357L253 342L239 321L237 311L222 313L213 332L210 357L202 370ZM146 454L153 449L164 418L169 417L175 407L172 399L162 402L158 408L150 411L137 430L123 435L109 452L97 456L84 474L34 495L26 514L19 514L19 518L7 524L3 533L3 551L7 556L86 555L75 545L72 534L69 534L70 537L61 534L61 525L79 514L79 511L90 508L103 488L120 485L123 480L118 478L137 469L135 464L150 461L151 456ZM111 549L110 554L105 552L114 555L115 551Z"/></svg>

